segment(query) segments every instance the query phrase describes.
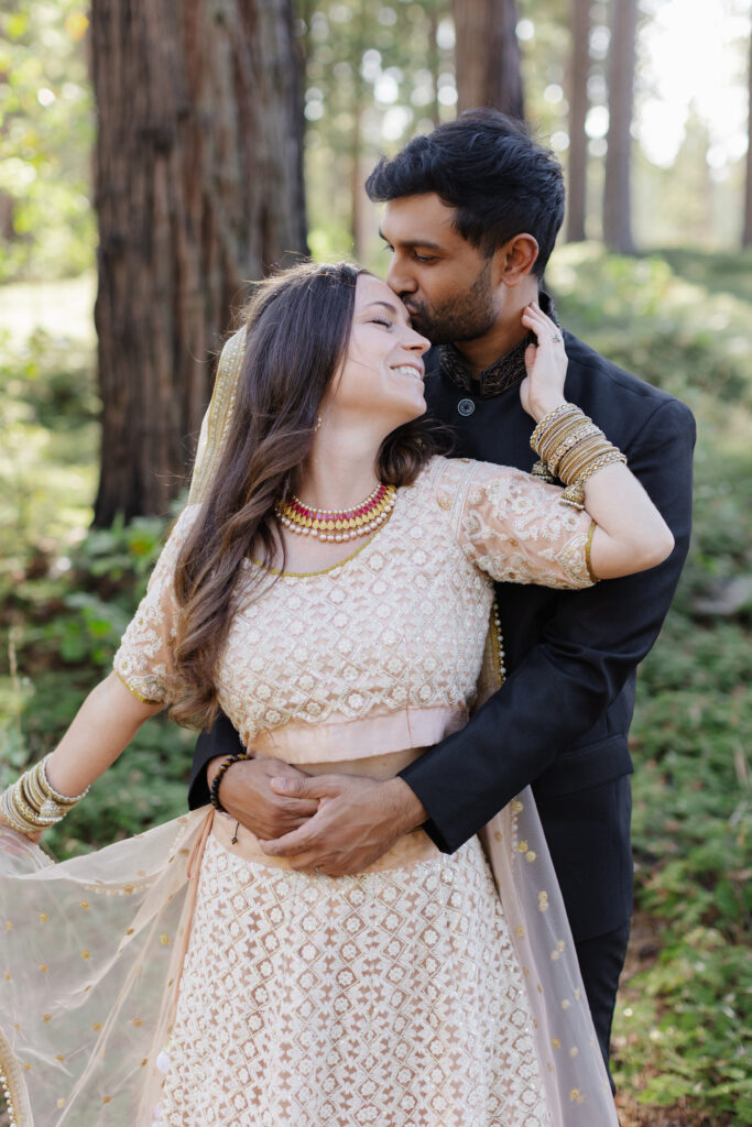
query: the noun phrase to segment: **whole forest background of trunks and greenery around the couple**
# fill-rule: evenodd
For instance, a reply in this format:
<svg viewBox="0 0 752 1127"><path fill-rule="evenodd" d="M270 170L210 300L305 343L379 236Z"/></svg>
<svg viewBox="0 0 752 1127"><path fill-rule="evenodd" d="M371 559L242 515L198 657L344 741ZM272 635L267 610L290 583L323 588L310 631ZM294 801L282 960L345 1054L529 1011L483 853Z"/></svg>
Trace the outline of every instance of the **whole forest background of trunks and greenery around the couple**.
<svg viewBox="0 0 752 1127"><path fill-rule="evenodd" d="M0 787L109 668L245 283L307 246L383 274L363 180L466 99L522 105L558 153L565 323L699 421L632 727L625 1127L752 1122L750 7L0 0ZM182 810L192 744L145 726L56 852Z"/></svg>

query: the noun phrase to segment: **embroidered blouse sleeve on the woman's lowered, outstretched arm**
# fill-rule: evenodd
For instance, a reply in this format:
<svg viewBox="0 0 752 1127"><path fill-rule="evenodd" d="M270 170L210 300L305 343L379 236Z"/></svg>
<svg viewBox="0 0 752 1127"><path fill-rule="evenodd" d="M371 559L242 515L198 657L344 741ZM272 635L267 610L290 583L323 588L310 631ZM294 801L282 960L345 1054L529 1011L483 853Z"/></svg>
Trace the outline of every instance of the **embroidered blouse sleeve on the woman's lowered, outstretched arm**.
<svg viewBox="0 0 752 1127"><path fill-rule="evenodd" d="M177 518L113 662L126 689L150 704L167 703L176 635L175 565L200 508L189 505Z"/></svg>

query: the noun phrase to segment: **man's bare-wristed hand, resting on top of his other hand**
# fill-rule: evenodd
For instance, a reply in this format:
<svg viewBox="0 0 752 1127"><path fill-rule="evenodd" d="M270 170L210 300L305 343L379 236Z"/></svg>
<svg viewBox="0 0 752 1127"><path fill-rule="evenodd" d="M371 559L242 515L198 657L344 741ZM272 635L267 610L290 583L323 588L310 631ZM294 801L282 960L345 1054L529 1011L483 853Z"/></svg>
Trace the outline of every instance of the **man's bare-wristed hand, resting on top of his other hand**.
<svg viewBox="0 0 752 1127"><path fill-rule="evenodd" d="M274 779L272 789L315 800L318 813L284 837L260 841L262 849L289 858L293 869L319 869L329 877L362 872L427 818L399 777L386 782L347 774L287 777Z"/></svg>

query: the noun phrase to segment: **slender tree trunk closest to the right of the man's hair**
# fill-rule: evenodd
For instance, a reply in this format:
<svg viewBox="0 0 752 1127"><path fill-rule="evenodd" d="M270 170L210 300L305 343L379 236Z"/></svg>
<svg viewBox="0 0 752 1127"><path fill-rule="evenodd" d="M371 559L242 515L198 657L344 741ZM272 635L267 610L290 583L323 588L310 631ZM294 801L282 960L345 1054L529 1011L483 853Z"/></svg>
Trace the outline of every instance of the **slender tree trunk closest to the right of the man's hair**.
<svg viewBox="0 0 752 1127"><path fill-rule="evenodd" d="M567 242L585 239L587 202L587 78L590 76L591 0L572 0L572 53L569 55L569 160L567 192Z"/></svg>

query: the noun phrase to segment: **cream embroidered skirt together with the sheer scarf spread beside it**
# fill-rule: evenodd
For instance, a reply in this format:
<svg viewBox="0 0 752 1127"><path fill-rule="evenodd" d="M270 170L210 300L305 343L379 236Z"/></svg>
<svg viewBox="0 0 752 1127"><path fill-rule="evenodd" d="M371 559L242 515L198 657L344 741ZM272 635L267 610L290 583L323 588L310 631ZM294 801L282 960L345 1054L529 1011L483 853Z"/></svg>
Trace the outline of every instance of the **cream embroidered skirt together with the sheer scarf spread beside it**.
<svg viewBox="0 0 752 1127"><path fill-rule="evenodd" d="M417 832L343 878L233 846L211 808L62 864L0 831L14 1121L618 1127L521 799L483 845Z"/></svg>

